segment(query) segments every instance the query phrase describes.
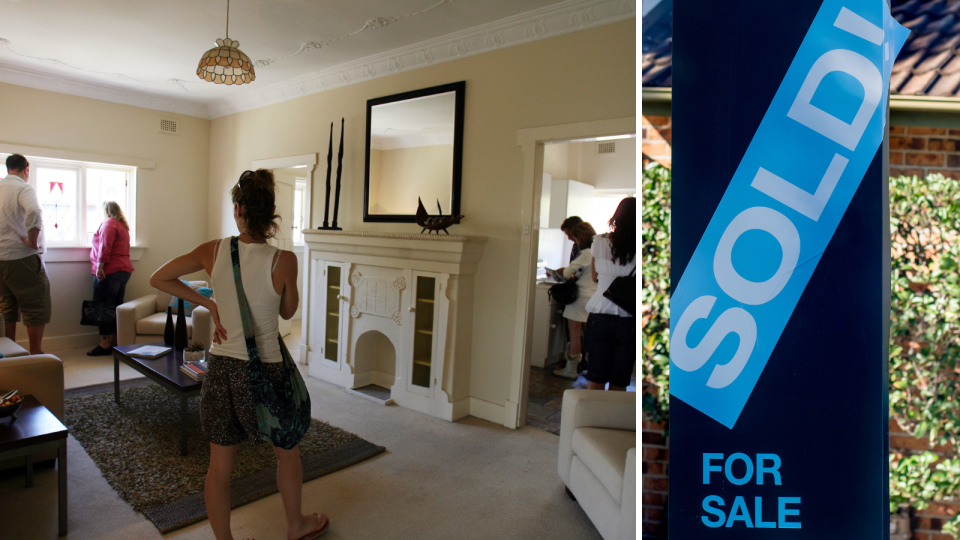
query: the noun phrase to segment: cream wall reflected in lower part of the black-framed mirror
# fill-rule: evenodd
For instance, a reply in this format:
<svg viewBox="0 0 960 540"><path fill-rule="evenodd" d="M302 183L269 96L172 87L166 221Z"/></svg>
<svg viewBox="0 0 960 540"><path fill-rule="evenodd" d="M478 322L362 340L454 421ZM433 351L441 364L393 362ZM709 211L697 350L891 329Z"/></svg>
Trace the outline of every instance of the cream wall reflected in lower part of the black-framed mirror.
<svg viewBox="0 0 960 540"><path fill-rule="evenodd" d="M374 166L376 180L374 180ZM450 214L453 145L438 144L396 150L370 150L370 209L374 214L415 214L417 197L427 212L439 200Z"/></svg>

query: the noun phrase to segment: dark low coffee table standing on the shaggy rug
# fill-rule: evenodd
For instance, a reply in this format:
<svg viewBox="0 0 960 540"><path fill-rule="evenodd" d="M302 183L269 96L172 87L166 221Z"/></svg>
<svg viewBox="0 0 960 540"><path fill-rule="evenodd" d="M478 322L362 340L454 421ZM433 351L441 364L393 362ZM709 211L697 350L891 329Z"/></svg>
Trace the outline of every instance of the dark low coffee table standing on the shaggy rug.
<svg viewBox="0 0 960 540"><path fill-rule="evenodd" d="M128 352L144 345L166 347L162 341L121 345L113 348L113 399L120 403L120 362L147 376L151 381L180 396L180 455L187 455L187 399L200 395L203 383L180 371L183 351L170 347L170 352L156 358L137 358Z"/></svg>

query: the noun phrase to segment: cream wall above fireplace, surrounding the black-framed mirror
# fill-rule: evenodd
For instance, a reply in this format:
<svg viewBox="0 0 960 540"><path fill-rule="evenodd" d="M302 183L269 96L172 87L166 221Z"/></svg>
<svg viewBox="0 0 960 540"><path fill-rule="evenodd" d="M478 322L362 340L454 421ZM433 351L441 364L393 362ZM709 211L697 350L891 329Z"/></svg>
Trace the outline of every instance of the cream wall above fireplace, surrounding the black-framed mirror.
<svg viewBox="0 0 960 540"><path fill-rule="evenodd" d="M236 232L226 193L251 161L307 153L318 153L324 161L329 135L323 126L341 116L346 118L341 226L419 233L413 224L363 222L366 101L465 80L461 210L466 218L452 233L489 238L475 280L470 395L503 405L523 234L518 130L635 116L635 27L630 19L215 119L210 128L210 235ZM324 177L323 165L318 179ZM322 220L323 183L318 180L313 226Z"/></svg>

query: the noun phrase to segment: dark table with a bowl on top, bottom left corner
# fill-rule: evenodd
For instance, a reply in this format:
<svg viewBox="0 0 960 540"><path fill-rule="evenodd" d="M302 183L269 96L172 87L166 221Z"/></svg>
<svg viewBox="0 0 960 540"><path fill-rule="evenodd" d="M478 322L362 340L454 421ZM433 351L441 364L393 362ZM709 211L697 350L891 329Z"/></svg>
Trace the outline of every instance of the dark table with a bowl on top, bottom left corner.
<svg viewBox="0 0 960 540"><path fill-rule="evenodd" d="M67 427L33 395L23 396L17 420L0 420L0 461L26 457L27 487L33 486L33 454L57 450L59 535L67 534Z"/></svg>

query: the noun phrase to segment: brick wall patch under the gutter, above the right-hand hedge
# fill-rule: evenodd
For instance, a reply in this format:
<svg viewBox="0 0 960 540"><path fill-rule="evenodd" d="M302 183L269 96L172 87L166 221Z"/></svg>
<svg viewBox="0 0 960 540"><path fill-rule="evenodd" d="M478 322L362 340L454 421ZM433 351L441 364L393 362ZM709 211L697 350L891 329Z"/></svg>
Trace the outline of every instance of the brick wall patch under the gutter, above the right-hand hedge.
<svg viewBox="0 0 960 540"><path fill-rule="evenodd" d="M960 129L890 126L890 176L960 178Z"/></svg>

